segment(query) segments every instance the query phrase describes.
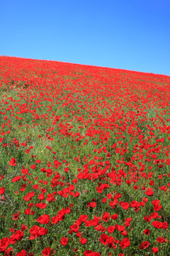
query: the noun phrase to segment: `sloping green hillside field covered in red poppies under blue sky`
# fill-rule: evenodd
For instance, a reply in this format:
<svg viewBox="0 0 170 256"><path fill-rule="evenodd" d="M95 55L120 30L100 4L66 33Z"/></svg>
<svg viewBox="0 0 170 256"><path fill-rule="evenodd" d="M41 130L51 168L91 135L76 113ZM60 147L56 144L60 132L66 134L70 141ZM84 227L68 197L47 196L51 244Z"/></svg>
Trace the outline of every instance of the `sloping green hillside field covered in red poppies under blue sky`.
<svg viewBox="0 0 170 256"><path fill-rule="evenodd" d="M170 255L170 77L0 57L0 255Z"/></svg>

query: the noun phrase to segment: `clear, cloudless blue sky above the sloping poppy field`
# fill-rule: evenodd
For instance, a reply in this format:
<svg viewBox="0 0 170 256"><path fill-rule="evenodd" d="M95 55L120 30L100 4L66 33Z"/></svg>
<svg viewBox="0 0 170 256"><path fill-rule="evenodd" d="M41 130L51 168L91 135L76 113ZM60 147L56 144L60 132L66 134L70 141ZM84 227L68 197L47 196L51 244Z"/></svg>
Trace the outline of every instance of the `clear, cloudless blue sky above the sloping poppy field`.
<svg viewBox="0 0 170 256"><path fill-rule="evenodd" d="M0 1L0 55L170 75L169 0Z"/></svg>

